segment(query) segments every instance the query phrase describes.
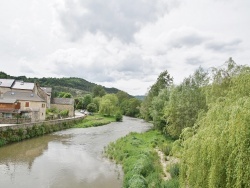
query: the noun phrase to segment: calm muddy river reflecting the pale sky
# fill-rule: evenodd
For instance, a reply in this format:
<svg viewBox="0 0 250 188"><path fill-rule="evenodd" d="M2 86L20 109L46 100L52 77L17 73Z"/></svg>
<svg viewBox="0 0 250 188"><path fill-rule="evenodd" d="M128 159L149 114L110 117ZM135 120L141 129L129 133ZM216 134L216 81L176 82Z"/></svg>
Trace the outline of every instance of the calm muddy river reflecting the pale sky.
<svg viewBox="0 0 250 188"><path fill-rule="evenodd" d="M122 170L104 147L129 132L151 127L142 120L73 128L0 148L1 188L119 188Z"/></svg>

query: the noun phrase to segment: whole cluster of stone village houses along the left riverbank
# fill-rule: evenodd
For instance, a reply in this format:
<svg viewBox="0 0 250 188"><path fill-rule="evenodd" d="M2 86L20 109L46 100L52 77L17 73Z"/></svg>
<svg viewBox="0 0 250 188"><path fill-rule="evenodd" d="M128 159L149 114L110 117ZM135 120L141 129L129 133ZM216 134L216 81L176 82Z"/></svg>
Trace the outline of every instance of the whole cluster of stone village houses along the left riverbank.
<svg viewBox="0 0 250 188"><path fill-rule="evenodd" d="M0 79L0 118L26 117L32 122L44 121L46 109L49 108L68 110L68 116L74 116L74 99L52 100L51 97L50 87L15 79Z"/></svg>

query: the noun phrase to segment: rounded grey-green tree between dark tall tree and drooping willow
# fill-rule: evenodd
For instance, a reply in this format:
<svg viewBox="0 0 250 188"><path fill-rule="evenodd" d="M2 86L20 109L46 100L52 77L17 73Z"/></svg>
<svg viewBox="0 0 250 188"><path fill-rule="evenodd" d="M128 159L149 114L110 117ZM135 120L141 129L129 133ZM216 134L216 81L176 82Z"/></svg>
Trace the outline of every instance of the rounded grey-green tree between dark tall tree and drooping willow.
<svg viewBox="0 0 250 188"><path fill-rule="evenodd" d="M201 68L172 89L165 108L166 131L178 138L185 127L193 127L198 115L207 111L203 87L208 84L208 74Z"/></svg>

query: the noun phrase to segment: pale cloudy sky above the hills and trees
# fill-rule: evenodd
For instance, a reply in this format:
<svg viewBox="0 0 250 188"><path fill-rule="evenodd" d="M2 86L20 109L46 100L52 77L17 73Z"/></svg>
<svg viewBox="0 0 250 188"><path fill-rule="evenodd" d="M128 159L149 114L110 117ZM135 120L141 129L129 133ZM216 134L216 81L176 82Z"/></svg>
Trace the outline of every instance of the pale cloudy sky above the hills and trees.
<svg viewBox="0 0 250 188"><path fill-rule="evenodd" d="M0 71L145 94L229 57L250 65L249 0L1 0Z"/></svg>

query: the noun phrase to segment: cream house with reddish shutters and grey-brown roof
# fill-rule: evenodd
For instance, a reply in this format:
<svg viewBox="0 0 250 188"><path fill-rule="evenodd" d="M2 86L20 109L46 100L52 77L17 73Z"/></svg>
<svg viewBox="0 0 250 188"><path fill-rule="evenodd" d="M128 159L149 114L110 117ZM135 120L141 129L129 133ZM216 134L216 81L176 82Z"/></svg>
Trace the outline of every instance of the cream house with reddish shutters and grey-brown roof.
<svg viewBox="0 0 250 188"><path fill-rule="evenodd" d="M20 116L31 118L32 122L45 120L46 101L33 92L7 91L1 100L16 101Z"/></svg>

